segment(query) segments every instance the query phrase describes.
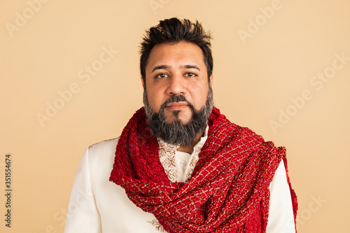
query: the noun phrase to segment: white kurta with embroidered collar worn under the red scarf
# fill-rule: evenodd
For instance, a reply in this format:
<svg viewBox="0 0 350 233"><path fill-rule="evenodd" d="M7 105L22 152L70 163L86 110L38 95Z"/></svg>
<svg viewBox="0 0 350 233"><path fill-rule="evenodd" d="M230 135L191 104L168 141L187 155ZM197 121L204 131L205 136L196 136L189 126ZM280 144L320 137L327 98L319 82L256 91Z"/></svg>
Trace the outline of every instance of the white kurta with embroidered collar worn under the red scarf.
<svg viewBox="0 0 350 233"><path fill-rule="evenodd" d="M206 137L201 139L203 143L205 140ZM94 144L85 150L71 190L65 233L165 232L153 214L139 209L127 198L123 188L109 181L117 143L118 139L111 139ZM161 148L160 144L160 150ZM193 155L180 153L176 148L174 151L174 156L170 153L163 159L172 158L171 162L176 163L172 166L177 168L176 174L167 171L166 163L169 160L167 162L162 161L162 158L160 160L171 181L186 181L188 174L192 174L190 170L193 166L190 164L196 162L195 154L198 151L194 150ZM295 232L293 208L283 161L276 170L270 192L267 232Z"/></svg>

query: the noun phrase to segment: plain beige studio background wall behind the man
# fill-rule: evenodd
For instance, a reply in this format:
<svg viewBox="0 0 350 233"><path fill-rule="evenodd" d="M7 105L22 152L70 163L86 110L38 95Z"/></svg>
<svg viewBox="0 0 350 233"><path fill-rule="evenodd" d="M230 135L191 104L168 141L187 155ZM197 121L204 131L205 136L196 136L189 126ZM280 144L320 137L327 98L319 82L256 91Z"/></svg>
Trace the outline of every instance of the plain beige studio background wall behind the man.
<svg viewBox="0 0 350 233"><path fill-rule="evenodd" d="M141 35L174 16L213 32L221 112L286 146L299 232L350 232L350 60L337 58L350 57L350 1L2 0L0 9L1 232L63 232L83 151L118 136L142 104ZM104 49L118 53L101 63ZM48 104L60 109L48 116Z"/></svg>

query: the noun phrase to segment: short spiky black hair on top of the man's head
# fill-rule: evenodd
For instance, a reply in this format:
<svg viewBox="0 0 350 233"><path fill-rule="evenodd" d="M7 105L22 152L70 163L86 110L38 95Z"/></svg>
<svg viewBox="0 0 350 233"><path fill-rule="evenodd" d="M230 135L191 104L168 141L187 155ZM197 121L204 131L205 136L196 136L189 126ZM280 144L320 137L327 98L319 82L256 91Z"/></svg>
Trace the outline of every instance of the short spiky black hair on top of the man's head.
<svg viewBox="0 0 350 233"><path fill-rule="evenodd" d="M196 20L183 19L176 17L161 20L160 23L146 31L146 35L141 42L140 71L146 86L146 66L152 48L160 43L178 43L186 41L198 45L204 55L204 63L207 66L208 82L210 85L210 76L213 73L213 56L211 55L211 34L204 31L202 24Z"/></svg>

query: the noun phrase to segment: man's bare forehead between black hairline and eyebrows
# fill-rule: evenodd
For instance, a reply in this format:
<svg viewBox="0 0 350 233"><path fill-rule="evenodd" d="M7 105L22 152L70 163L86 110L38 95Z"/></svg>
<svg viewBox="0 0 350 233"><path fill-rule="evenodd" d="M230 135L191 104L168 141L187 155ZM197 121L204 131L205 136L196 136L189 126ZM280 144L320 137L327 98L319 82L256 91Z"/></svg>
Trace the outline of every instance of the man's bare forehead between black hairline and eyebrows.
<svg viewBox="0 0 350 233"><path fill-rule="evenodd" d="M200 46L184 41L179 43L160 43L152 48L148 57L146 71L150 71L152 67L162 64L170 66L195 64L207 68Z"/></svg>

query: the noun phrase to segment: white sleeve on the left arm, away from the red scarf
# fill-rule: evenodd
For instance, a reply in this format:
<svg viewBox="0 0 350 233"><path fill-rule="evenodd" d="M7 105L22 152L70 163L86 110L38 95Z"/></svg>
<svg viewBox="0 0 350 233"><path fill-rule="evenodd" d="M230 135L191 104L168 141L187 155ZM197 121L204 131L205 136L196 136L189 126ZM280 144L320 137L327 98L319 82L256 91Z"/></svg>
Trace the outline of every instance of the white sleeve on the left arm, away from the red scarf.
<svg viewBox="0 0 350 233"><path fill-rule="evenodd" d="M85 150L74 178L64 233L101 233L101 218L90 182L89 149Z"/></svg>

